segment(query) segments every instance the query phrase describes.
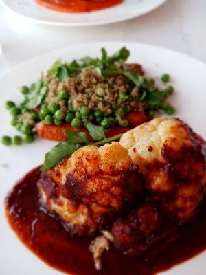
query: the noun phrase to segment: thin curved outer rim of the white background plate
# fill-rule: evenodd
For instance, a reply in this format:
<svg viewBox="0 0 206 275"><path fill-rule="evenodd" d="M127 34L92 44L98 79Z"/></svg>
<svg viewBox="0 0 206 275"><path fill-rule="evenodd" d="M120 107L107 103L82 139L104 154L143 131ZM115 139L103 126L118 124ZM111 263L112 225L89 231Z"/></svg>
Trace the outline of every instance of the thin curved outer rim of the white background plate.
<svg viewBox="0 0 206 275"><path fill-rule="evenodd" d="M80 23L64 23L64 22L54 22L54 21L45 21L43 19L35 19L33 17L29 17L25 14L21 14L19 12L16 12L15 10L13 10L12 8L10 8L9 5L7 5L5 3L6 0L0 0L0 3L3 5L3 8L5 8L5 10L8 10L8 12L12 12L13 14L16 14L16 16L21 17L22 19L26 19L30 22L33 23L38 23L38 24L43 24L43 25L52 25L52 26L56 26L56 27L91 27L91 26L98 26L98 25L108 25L108 24L114 24L114 23L120 23L123 21L128 21L131 19L135 19L136 17L141 17L144 14L147 14L149 12L152 12L152 10L156 10L157 8L159 8L161 5L163 5L167 0L159 0L159 3L157 5L152 5L152 7L150 8L146 8L143 12L141 12L141 14L130 14L130 16L125 16L119 19L111 19L110 21L102 21L102 22L80 22ZM43 8L46 9L46 8ZM49 9L46 9L49 10Z"/></svg>

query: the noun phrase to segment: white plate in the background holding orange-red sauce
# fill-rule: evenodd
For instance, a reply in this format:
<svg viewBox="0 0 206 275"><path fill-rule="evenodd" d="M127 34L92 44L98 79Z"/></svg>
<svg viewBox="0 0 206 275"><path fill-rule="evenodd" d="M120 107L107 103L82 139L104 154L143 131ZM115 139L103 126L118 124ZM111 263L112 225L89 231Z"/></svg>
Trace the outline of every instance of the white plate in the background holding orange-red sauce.
<svg viewBox="0 0 206 275"><path fill-rule="evenodd" d="M37 5L34 0L2 0L5 7L16 14L49 25L64 26L91 26L115 23L139 17L146 12L150 12L165 0L124 0L122 4L115 5L112 8L85 13L63 13L48 10Z"/></svg>

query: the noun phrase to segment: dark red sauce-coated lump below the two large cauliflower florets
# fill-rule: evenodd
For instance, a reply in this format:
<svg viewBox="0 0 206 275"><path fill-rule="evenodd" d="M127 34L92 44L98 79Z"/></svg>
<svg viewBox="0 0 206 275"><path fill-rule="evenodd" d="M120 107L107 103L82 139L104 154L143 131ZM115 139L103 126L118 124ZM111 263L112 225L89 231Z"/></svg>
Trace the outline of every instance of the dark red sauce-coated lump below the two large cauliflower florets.
<svg viewBox="0 0 206 275"><path fill-rule="evenodd" d="M152 204L139 206L127 217L113 223L113 243L124 254L139 255L157 243L169 241L176 236L174 224Z"/></svg>

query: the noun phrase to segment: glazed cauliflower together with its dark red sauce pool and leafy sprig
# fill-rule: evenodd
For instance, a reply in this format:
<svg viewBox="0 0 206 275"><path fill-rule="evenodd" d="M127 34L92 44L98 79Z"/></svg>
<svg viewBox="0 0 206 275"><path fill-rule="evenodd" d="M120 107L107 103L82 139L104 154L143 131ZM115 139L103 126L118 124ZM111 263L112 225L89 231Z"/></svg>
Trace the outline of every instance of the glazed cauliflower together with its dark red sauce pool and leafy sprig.
<svg viewBox="0 0 206 275"><path fill-rule="evenodd" d="M108 138L88 125L89 135L66 129L5 199L23 243L82 275L151 275L205 250L203 138L177 118Z"/></svg>

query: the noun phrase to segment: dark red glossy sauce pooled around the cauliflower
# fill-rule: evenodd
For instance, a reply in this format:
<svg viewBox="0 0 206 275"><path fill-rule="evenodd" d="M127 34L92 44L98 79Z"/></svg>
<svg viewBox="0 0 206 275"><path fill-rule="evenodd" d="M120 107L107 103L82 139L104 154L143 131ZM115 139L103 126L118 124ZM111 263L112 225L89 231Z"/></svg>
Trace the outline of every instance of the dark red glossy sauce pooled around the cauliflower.
<svg viewBox="0 0 206 275"><path fill-rule="evenodd" d="M45 263L69 274L151 275L186 261L206 248L206 202L190 225L179 229L179 239L141 257L126 256L115 248L104 254L104 268L95 270L89 252L91 239L73 238L38 202L39 167L25 175L8 197L8 221L19 239ZM23 268L23 267L22 267Z"/></svg>

